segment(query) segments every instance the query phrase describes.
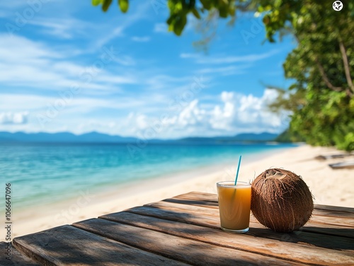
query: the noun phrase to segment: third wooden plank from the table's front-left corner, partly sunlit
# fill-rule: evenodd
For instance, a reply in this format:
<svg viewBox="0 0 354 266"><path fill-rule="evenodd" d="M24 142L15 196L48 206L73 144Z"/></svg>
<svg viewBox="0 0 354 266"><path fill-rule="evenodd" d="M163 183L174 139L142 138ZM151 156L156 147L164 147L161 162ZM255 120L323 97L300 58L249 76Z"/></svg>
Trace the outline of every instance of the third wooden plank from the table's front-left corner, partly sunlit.
<svg viewBox="0 0 354 266"><path fill-rule="evenodd" d="M354 243L348 238L333 239L330 236L325 236L324 239L322 238L319 239L319 241L315 241L313 237L314 234L302 232L302 236L294 234L294 236L288 239L289 242L286 242L260 238L250 234L233 235L219 229L173 222L155 217L146 217L130 212L107 214L102 218L161 231L173 236L180 236L211 243L213 245L245 250L252 253L265 254L275 258L295 260L302 263L318 265L353 264ZM305 238L311 243L304 243ZM338 249L343 251L338 251Z"/></svg>

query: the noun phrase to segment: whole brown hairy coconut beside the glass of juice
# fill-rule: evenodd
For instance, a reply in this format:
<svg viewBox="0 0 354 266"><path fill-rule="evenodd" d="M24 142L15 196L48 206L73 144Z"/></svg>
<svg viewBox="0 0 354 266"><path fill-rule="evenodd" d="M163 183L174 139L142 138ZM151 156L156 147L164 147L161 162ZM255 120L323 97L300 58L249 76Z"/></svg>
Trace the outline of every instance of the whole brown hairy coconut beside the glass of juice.
<svg viewBox="0 0 354 266"><path fill-rule="evenodd" d="M277 232L299 229L314 210L309 187L285 169L268 169L252 182L251 210L261 224Z"/></svg>

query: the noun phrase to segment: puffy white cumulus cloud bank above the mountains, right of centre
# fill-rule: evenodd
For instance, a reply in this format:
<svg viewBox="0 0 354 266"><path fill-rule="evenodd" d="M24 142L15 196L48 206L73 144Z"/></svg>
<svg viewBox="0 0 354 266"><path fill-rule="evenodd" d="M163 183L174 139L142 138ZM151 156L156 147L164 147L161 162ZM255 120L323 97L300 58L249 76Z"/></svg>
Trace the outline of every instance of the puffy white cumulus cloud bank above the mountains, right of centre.
<svg viewBox="0 0 354 266"><path fill-rule="evenodd" d="M192 99L183 109L161 111L160 116L130 114L122 122L125 126L116 129L139 138L280 133L288 126L289 114L278 115L267 110L268 102L276 97L277 92L268 89L261 97L224 91L219 95L219 104L201 104Z"/></svg>

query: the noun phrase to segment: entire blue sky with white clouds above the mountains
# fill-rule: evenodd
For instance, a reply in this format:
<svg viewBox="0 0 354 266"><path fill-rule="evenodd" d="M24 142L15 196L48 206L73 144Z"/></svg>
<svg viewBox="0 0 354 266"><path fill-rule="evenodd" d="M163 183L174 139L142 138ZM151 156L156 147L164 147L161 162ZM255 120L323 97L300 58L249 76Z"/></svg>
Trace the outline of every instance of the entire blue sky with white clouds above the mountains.
<svg viewBox="0 0 354 266"><path fill-rule="evenodd" d="M280 133L271 114L287 87L282 62L290 37L263 42L261 19L219 20L208 52L189 18L167 31L164 1L133 0L122 14L91 1L1 1L0 131L86 133L140 138Z"/></svg>

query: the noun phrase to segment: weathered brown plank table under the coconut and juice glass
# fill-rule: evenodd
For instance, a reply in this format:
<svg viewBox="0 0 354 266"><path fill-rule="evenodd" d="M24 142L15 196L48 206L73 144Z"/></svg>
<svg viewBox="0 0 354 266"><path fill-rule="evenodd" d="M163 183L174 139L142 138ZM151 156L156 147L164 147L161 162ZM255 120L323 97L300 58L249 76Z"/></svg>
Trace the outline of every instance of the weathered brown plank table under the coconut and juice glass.
<svg viewBox="0 0 354 266"><path fill-rule="evenodd" d="M251 217L249 232L231 234L217 195L191 192L15 238L12 255L0 265L354 265L354 209L316 205L290 234Z"/></svg>

